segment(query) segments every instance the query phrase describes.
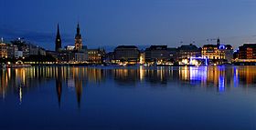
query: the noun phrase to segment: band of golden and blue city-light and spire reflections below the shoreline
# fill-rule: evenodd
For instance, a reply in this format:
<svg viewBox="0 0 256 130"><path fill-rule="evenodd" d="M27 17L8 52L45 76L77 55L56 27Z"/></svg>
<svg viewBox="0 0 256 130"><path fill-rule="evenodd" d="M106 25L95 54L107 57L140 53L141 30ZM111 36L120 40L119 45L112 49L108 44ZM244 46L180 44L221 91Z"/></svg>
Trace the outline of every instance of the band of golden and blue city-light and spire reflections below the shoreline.
<svg viewBox="0 0 256 130"><path fill-rule="evenodd" d="M228 87L244 87L256 84L255 66L201 66L201 67L67 67L43 66L0 71L0 95L5 99L8 95L17 95L18 102L23 102L23 93L39 87L50 80L56 82L59 107L63 87L76 93L80 107L83 88L96 86L106 80L117 86L135 87L141 83L152 86L169 83L182 86L216 87L218 92L225 92ZM184 85L185 84L185 85Z"/></svg>

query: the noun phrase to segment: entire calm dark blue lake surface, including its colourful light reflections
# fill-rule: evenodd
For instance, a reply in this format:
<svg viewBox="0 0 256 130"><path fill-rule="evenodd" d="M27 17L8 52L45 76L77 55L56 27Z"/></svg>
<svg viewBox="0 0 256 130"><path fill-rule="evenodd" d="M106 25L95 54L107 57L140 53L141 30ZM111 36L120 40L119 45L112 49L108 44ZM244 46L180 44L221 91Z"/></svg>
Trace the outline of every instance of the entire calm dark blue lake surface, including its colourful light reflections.
<svg viewBox="0 0 256 130"><path fill-rule="evenodd" d="M0 71L0 129L256 129L256 66Z"/></svg>

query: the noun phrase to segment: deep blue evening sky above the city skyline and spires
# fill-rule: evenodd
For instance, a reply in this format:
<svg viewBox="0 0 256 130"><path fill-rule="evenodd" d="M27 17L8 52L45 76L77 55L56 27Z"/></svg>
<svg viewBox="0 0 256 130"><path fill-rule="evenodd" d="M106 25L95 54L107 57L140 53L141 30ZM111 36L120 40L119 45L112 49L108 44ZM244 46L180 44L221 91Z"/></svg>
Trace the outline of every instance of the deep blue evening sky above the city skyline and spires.
<svg viewBox="0 0 256 130"><path fill-rule="evenodd" d="M63 45L73 45L77 22L89 48L178 46L208 38L235 47L256 42L254 0L1 0L0 36L54 48L57 23Z"/></svg>

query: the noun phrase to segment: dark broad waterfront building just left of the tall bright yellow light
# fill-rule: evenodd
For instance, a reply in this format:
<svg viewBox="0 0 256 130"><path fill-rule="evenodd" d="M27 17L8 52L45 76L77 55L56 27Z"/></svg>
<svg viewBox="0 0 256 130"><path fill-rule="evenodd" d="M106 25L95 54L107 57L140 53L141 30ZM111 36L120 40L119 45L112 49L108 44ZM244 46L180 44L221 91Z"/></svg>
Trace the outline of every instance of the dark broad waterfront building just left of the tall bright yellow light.
<svg viewBox="0 0 256 130"><path fill-rule="evenodd" d="M140 51L135 45L119 45L114 49L115 63L137 64L140 58Z"/></svg>

